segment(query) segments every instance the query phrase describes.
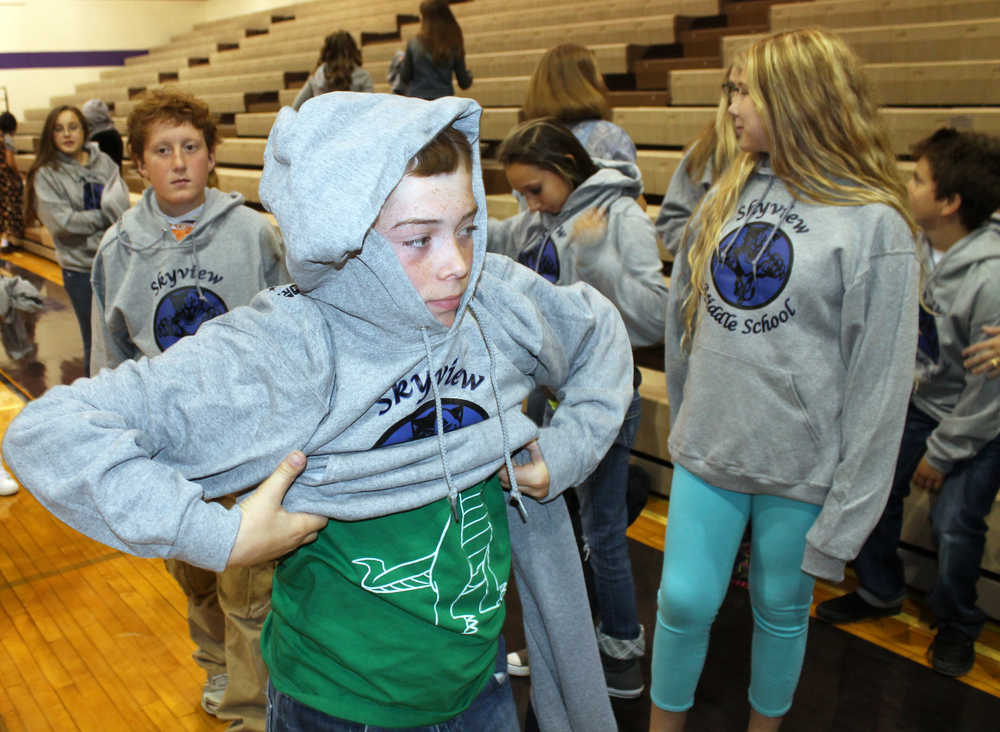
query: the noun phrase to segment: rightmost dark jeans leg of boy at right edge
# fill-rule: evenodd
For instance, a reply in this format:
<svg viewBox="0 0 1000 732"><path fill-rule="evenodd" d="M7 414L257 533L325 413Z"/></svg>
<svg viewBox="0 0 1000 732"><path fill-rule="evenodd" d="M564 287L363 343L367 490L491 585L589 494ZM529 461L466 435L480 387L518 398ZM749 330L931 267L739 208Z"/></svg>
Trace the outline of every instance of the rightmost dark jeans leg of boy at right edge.
<svg viewBox="0 0 1000 732"><path fill-rule="evenodd" d="M1000 482L1000 437L969 460L956 463L931 509L938 574L927 598L938 625L975 639L986 619L976 607L976 582L986 546L986 516Z"/></svg>

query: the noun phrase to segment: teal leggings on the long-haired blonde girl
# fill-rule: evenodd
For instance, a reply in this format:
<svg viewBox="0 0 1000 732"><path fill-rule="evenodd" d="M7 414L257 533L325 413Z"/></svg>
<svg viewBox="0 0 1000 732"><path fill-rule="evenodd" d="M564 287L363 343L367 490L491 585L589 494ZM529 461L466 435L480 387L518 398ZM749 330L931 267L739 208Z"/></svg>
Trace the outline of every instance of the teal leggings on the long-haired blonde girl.
<svg viewBox="0 0 1000 732"><path fill-rule="evenodd" d="M813 579L799 567L820 507L715 488L674 465L653 638L650 695L661 709L694 704L708 634L729 587L747 519L752 524L750 704L784 715L802 671Z"/></svg>

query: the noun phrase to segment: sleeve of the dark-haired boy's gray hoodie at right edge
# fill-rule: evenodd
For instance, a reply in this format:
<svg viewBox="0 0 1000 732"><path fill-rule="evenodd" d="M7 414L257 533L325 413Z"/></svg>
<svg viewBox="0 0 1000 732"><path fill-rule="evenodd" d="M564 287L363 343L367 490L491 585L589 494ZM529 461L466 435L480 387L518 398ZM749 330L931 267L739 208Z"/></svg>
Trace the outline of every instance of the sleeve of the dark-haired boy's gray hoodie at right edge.
<svg viewBox="0 0 1000 732"><path fill-rule="evenodd" d="M979 288L970 298L973 307L962 329L981 338L984 325L1000 324L1000 271L995 263L984 262ZM994 266L990 266L994 265ZM964 287L963 283L963 287ZM919 394L919 388L918 392ZM942 473L950 473L955 463L968 460L1000 434L1000 379L965 372L965 385L951 413L938 423L927 438L927 462Z"/></svg>

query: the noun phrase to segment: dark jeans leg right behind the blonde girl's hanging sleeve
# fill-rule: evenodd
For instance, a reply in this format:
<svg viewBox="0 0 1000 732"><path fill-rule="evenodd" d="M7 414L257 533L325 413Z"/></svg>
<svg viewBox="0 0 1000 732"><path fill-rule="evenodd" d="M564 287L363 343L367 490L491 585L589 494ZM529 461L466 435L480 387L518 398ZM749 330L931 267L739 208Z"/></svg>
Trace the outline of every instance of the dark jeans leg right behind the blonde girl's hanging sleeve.
<svg viewBox="0 0 1000 732"><path fill-rule="evenodd" d="M912 404L906 413L903 438L896 458L889 502L857 558L858 592L873 605L897 605L906 594L903 561L896 553L903 531L903 499L910 494L910 478L927 449L927 437L937 421Z"/></svg>

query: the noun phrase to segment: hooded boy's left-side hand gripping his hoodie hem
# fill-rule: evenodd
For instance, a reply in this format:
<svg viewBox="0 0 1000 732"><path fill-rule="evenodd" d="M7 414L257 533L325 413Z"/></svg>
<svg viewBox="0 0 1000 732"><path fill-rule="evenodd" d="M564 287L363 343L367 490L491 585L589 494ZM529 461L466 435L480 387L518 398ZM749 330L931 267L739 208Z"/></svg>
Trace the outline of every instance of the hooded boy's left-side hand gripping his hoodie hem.
<svg viewBox="0 0 1000 732"><path fill-rule="evenodd" d="M326 517L288 513L281 507L288 487L305 466L306 456L296 450L249 498L237 504L243 516L227 567L260 564L316 540L319 530L326 526Z"/></svg>

